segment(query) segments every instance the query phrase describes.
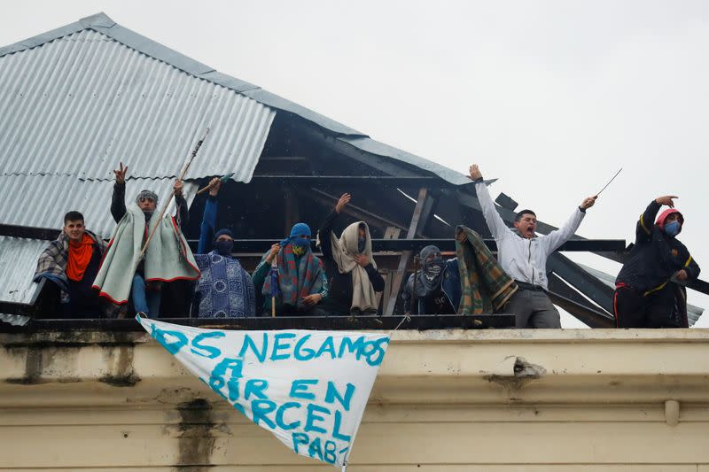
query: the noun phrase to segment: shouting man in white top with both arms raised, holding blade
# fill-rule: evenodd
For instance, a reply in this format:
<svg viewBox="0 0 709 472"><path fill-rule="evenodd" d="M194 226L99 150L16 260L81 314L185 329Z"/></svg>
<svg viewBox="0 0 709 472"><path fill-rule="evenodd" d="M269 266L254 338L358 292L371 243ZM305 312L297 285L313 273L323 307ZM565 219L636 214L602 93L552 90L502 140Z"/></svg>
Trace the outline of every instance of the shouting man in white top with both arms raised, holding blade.
<svg viewBox="0 0 709 472"><path fill-rule="evenodd" d="M547 258L573 236L597 196L585 198L563 227L536 236L537 218L532 210L517 213L514 229L508 228L497 213L476 164L470 173L487 228L497 243L497 261L519 287L506 309L515 314L515 328L561 328L557 308L547 296Z"/></svg>

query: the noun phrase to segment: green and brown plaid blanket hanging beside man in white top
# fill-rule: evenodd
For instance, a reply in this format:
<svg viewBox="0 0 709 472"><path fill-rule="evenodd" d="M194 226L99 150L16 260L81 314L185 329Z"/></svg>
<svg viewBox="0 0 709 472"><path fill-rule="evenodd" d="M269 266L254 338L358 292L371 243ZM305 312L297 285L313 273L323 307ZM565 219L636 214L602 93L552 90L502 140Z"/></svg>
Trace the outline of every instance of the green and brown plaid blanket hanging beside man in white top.
<svg viewBox="0 0 709 472"><path fill-rule="evenodd" d="M462 241L462 242L461 242ZM518 290L478 233L456 227L456 253L463 295L459 314L498 312Z"/></svg>

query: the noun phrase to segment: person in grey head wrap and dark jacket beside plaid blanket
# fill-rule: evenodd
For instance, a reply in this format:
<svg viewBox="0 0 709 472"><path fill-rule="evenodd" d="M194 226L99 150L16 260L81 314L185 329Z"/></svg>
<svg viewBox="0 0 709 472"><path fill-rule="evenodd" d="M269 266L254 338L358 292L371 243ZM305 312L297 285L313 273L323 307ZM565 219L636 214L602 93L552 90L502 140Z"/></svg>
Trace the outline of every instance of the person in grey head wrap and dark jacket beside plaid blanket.
<svg viewBox="0 0 709 472"><path fill-rule="evenodd" d="M421 268L409 275L401 293L404 312L411 314L456 314L461 289L458 259L444 260L440 249L426 246L419 253Z"/></svg>

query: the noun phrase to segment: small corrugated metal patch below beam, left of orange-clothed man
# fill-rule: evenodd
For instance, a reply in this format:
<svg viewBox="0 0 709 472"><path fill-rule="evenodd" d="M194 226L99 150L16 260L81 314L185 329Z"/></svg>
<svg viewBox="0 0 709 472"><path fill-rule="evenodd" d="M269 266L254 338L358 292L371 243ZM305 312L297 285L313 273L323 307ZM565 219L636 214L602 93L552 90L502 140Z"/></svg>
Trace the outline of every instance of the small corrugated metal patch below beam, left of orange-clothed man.
<svg viewBox="0 0 709 472"><path fill-rule="evenodd" d="M0 301L32 302L37 288L32 275L47 244L38 239L0 236Z"/></svg>

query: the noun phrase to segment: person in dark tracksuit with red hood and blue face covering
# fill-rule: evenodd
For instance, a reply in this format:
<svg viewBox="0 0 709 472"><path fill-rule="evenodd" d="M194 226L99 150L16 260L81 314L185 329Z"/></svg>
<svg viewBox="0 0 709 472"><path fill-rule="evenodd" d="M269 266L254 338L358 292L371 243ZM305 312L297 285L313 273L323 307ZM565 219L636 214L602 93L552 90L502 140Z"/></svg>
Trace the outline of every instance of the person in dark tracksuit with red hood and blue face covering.
<svg viewBox="0 0 709 472"><path fill-rule="evenodd" d="M689 328L684 285L697 279L699 266L677 240L684 217L674 198L652 200L635 225L635 245L615 281L619 328ZM669 208L652 224L662 205Z"/></svg>

